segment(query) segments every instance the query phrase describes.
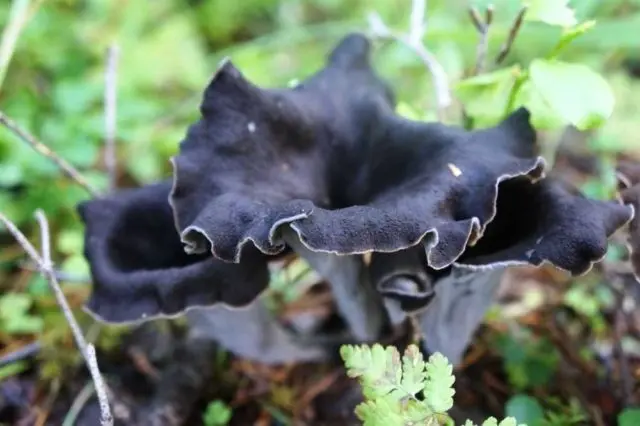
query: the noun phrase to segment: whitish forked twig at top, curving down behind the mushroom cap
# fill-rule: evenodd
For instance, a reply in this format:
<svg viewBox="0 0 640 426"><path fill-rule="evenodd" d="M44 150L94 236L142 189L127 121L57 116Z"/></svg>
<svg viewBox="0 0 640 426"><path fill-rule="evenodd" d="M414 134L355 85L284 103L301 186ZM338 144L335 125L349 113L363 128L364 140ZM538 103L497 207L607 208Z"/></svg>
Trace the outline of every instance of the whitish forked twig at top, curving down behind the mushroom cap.
<svg viewBox="0 0 640 426"><path fill-rule="evenodd" d="M368 16L369 27L374 37L392 39L404 44L422 60L433 77L433 86L436 95L438 118L444 120L444 112L451 105L451 90L449 78L442 65L431 51L422 43L425 25L426 1L413 0L411 7L411 27L408 34L399 34L391 31L384 23L380 15L373 12Z"/></svg>

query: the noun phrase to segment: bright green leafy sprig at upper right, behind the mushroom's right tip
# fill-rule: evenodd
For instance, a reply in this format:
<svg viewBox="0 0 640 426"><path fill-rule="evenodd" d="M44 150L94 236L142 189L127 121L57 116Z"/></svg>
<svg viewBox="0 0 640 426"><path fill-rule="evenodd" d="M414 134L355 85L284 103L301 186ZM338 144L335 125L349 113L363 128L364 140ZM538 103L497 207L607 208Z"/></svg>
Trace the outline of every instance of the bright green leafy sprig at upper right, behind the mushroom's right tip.
<svg viewBox="0 0 640 426"><path fill-rule="evenodd" d="M458 82L455 92L468 116L476 127L485 127L526 106L537 129L558 129L567 124L580 130L602 126L614 107L608 82L585 64L558 59L569 44L594 28L595 21L578 23L568 0L523 3L527 6L525 21L560 27L560 37L543 58Z"/></svg>

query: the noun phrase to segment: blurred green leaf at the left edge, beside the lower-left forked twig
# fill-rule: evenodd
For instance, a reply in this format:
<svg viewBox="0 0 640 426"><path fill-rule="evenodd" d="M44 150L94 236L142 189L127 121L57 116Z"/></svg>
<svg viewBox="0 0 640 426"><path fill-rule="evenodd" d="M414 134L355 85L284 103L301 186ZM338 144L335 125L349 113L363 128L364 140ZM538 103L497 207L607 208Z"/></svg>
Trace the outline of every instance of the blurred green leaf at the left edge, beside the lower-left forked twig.
<svg viewBox="0 0 640 426"><path fill-rule="evenodd" d="M42 318L29 315L33 300L25 293L7 293L0 297L0 324L9 334L32 334L42 331Z"/></svg>

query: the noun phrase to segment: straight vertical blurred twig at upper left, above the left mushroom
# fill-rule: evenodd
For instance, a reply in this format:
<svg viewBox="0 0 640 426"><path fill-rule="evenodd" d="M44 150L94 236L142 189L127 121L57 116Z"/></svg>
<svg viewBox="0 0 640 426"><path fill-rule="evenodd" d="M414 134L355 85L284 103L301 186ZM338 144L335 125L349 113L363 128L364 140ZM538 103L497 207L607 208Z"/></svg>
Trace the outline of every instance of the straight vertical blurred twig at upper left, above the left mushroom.
<svg viewBox="0 0 640 426"><path fill-rule="evenodd" d="M107 49L107 66L105 70L104 121L105 121L105 153L104 165L109 174L109 190L116 187L116 96L118 78L118 46Z"/></svg>

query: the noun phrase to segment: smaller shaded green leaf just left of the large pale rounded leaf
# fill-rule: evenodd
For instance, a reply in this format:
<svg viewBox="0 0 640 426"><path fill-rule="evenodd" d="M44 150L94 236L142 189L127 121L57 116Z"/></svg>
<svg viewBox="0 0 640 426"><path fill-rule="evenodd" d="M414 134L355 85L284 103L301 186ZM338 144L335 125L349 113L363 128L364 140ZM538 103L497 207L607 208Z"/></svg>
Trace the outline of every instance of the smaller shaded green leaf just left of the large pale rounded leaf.
<svg viewBox="0 0 640 426"><path fill-rule="evenodd" d="M515 65L467 78L455 86L455 94L474 119L474 127L492 126L503 118L511 90L520 75L521 69Z"/></svg>

